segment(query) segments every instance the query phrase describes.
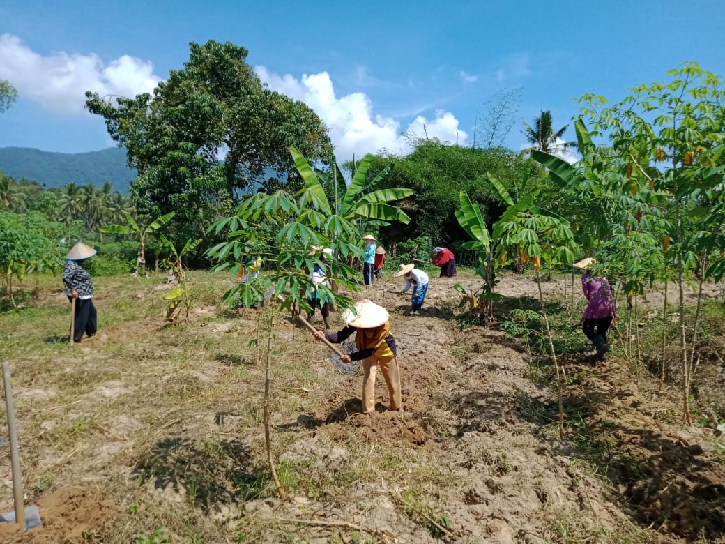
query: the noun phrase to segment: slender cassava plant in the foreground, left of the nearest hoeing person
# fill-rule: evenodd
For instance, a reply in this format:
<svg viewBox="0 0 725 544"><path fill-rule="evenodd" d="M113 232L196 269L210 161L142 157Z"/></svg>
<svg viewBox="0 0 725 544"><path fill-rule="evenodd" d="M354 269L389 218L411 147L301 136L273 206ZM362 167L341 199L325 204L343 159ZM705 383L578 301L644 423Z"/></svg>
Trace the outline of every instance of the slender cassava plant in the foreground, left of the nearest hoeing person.
<svg viewBox="0 0 725 544"><path fill-rule="evenodd" d="M314 194L314 191L312 191ZM319 196L319 195L317 195ZM308 204L309 207L305 207ZM302 308L309 310L306 294L312 287L310 271L315 265L327 269L328 279L344 285L351 292L357 291L360 273L344 264L344 257L362 257L357 247L360 232L352 223L339 215L328 215L320 199L312 202L307 197L302 202L285 191L275 194L256 194L245 200L236 213L214 223L210 231L227 233L227 240L212 247L208 255L218 265L215 270L228 269L236 277L244 248L249 244L259 244L270 248L262 255L268 273L263 273L254 281L236 284L224 294L226 304L233 306L239 302L244 305L256 305L266 308L266 366L264 388L264 426L265 445L268 463L278 492L286 493L277 476L270 434L270 392L273 368L274 328L279 313L283 309ZM342 259L322 261L317 255L310 255L313 245L331 247L335 255ZM351 308L349 297L337 294L323 284L317 286L320 297L327 297L338 308Z"/></svg>

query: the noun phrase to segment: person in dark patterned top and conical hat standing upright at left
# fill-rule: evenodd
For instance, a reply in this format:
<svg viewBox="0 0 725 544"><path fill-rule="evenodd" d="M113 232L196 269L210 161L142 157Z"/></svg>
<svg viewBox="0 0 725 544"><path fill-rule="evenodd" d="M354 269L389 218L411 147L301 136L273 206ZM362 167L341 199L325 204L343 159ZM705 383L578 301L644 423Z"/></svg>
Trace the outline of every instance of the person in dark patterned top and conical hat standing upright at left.
<svg viewBox="0 0 725 544"><path fill-rule="evenodd" d="M93 305L93 281L81 266L88 257L96 255L94 248L77 242L70 248L63 265L63 285L68 300L75 299L73 316L73 342L80 342L83 333L92 337L98 327L96 307Z"/></svg>

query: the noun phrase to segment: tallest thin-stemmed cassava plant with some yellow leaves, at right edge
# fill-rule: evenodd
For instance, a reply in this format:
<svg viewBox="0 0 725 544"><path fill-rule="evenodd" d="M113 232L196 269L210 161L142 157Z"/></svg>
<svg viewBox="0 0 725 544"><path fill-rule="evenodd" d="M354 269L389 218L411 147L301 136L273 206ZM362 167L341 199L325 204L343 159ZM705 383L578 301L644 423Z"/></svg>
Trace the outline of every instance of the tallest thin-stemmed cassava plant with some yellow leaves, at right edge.
<svg viewBox="0 0 725 544"><path fill-rule="evenodd" d="M674 259L679 284L683 411L689 424L695 362L688 353L694 354L696 342L695 337L689 341L692 349L688 351L684 289L691 266L698 262L693 250L725 249L718 247L722 237L711 236L719 231L722 215L703 213L703 208L717 210L725 197L725 88L721 78L695 63L670 70L668 75L671 81L636 86L630 96L610 107L605 107L604 97L593 94L582 96L579 102L592 125L592 136L604 137L611 145L617 161L610 162L609 171L624 182L622 192L662 191L668 199L674 228L668 255ZM635 221L639 221L637 215ZM687 225L695 223L699 223L696 228L687 231ZM713 263L708 269L715 277L716 266ZM697 326L694 330L697 334Z"/></svg>

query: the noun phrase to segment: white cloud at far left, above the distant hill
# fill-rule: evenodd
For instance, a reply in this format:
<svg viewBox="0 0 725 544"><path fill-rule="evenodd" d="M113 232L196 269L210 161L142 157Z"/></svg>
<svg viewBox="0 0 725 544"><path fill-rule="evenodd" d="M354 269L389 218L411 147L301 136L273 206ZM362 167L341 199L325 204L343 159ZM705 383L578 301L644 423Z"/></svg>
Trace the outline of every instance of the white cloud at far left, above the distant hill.
<svg viewBox="0 0 725 544"><path fill-rule="evenodd" d="M128 55L108 64L96 54L43 56L17 36L0 36L0 79L12 83L21 98L56 112L83 112L86 91L129 97L151 92L160 79L153 70L151 62Z"/></svg>

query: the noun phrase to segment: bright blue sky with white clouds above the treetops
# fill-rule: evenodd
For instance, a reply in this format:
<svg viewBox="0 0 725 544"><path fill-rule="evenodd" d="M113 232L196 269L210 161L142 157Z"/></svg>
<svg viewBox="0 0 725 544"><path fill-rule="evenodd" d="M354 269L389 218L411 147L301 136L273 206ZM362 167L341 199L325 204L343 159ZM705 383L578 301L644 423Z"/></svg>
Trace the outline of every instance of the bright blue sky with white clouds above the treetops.
<svg viewBox="0 0 725 544"><path fill-rule="evenodd" d="M506 145L551 110L571 123L585 93L617 101L695 61L725 75L725 4L682 1L41 1L0 2L0 79L20 99L0 115L0 147L110 147L86 90L130 96L183 67L188 42L232 41L270 88L310 105L339 160L401 133L470 145L497 91L522 88ZM573 139L573 128L567 139Z"/></svg>

